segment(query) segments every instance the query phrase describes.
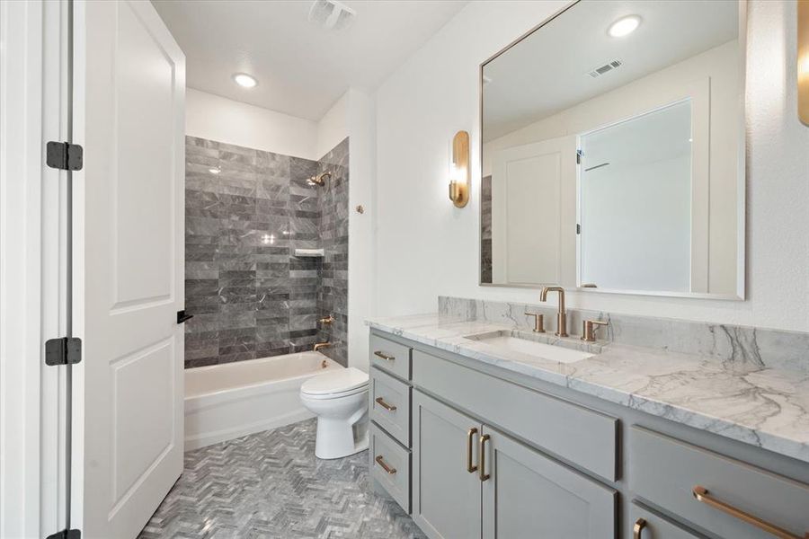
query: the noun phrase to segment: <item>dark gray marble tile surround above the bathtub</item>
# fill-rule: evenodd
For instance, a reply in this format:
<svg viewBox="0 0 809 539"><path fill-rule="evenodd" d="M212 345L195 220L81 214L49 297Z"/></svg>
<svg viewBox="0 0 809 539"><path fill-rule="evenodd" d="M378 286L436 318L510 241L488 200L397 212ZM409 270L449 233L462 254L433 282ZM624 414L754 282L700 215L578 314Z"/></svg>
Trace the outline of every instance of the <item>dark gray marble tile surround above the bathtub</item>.
<svg viewBox="0 0 809 539"><path fill-rule="evenodd" d="M344 171L311 185L330 155ZM316 162L186 137L185 188L185 305L194 315L185 367L312 349L327 337L335 346L324 352L345 364L348 139ZM321 246L324 260L293 255ZM319 331L328 314L336 322Z"/></svg>

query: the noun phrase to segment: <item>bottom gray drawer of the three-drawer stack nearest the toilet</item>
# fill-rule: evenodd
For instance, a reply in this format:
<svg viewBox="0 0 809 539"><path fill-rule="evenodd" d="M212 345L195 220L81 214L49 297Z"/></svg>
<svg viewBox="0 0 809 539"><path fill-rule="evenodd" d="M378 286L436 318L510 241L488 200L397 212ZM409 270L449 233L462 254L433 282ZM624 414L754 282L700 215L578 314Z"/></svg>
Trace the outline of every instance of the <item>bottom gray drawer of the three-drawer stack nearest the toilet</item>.
<svg viewBox="0 0 809 539"><path fill-rule="evenodd" d="M410 514L410 451L371 423L370 458L371 476Z"/></svg>

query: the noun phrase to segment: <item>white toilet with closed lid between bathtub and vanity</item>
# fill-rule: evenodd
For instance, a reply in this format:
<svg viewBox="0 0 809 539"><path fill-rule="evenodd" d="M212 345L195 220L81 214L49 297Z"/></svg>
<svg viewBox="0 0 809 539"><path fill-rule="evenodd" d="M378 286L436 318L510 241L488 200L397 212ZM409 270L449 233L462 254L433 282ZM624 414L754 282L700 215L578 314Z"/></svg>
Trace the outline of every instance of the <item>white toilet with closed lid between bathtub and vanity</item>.
<svg viewBox="0 0 809 539"><path fill-rule="evenodd" d="M315 456L331 459L368 448L368 374L348 367L312 376L300 401L317 416Z"/></svg>

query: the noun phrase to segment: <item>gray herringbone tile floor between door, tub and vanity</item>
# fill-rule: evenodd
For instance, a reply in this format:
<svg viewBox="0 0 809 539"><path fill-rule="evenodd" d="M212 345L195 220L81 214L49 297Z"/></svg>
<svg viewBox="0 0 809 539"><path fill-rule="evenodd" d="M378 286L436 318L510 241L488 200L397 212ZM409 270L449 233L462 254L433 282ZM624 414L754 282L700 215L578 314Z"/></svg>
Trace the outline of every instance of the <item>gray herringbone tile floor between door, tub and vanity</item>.
<svg viewBox="0 0 809 539"><path fill-rule="evenodd" d="M315 458L315 420L185 454L185 470L140 539L424 537L368 486L368 453Z"/></svg>

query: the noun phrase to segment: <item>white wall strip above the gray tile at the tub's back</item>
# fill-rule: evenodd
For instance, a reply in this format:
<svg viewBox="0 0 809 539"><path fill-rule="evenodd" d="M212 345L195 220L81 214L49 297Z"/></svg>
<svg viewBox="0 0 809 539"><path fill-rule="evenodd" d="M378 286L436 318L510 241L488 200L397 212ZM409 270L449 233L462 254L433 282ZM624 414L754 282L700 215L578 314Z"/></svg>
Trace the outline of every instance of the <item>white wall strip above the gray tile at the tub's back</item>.
<svg viewBox="0 0 809 539"><path fill-rule="evenodd" d="M193 88L188 88L185 96L186 135L306 159L323 155L317 154L317 122L311 119L262 109Z"/></svg>

